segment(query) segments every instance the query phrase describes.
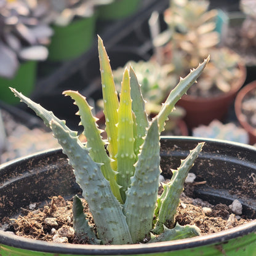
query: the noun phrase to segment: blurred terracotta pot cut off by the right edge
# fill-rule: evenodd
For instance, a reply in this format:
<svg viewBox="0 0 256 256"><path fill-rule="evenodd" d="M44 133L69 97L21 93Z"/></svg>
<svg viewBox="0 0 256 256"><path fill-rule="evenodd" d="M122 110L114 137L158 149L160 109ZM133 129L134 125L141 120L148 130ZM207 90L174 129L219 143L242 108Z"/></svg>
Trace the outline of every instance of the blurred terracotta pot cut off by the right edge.
<svg viewBox="0 0 256 256"><path fill-rule="evenodd" d="M250 126L250 124L246 121L244 114L242 113L242 101L246 94L248 94L251 90L256 90L256 81L250 82L240 90L234 102L234 110L239 123L249 134L249 143L254 145L256 143L256 129Z"/></svg>

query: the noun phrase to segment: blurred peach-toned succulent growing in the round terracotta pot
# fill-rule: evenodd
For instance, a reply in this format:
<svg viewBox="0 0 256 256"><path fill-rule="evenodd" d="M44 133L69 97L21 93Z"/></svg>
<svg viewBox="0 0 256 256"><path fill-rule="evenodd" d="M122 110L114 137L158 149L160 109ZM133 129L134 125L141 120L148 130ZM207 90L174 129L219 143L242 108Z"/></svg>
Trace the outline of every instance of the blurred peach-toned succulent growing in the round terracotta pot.
<svg viewBox="0 0 256 256"><path fill-rule="evenodd" d="M227 92L241 74L239 55L225 48L217 48L220 36L216 28L217 10L207 10L207 0L172 0L164 18L169 28L159 36L156 44L167 44L171 50L164 63L175 66L174 73L187 72L208 54L211 60L198 83L188 94L209 97Z"/></svg>

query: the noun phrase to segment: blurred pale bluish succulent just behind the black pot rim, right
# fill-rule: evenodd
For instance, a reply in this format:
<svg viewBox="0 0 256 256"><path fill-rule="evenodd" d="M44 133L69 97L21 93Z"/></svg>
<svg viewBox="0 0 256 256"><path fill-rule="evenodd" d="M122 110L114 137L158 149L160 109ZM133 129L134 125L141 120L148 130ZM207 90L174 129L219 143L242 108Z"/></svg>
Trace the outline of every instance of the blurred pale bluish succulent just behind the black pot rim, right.
<svg viewBox="0 0 256 256"><path fill-rule="evenodd" d="M218 120L210 122L208 126L198 126L193 129L194 137L218 138L220 140L230 140L231 142L249 143L246 130L236 126L233 122L222 124Z"/></svg>

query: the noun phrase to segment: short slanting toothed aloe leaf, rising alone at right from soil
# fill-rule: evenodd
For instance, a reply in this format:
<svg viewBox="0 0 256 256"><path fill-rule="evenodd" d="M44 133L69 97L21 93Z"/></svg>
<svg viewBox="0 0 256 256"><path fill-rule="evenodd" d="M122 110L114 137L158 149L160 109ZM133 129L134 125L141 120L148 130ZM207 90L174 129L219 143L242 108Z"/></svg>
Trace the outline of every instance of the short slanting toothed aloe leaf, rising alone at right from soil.
<svg viewBox="0 0 256 256"><path fill-rule="evenodd" d="M164 186L164 197L162 196L161 199L158 200L158 207L156 209L159 209L159 212L155 212L156 215L158 215L158 221L154 227L154 233L162 233L164 225L174 226L174 217L180 202L180 194L183 191L183 184L194 161L202 150L203 145L204 143L198 143L196 148L190 151L190 154L186 159L181 161L180 167L178 167L177 170L172 171L173 175L170 182Z"/></svg>

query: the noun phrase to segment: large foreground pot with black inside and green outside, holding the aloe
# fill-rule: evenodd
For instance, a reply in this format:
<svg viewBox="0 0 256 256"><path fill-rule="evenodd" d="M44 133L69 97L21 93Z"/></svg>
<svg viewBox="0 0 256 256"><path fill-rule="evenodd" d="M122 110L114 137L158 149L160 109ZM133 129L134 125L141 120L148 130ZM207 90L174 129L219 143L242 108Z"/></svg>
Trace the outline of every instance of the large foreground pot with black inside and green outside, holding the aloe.
<svg viewBox="0 0 256 256"><path fill-rule="evenodd" d="M223 140L194 137L162 137L161 168L168 178L170 167L177 168L189 149L205 141L203 151L191 172L197 180L206 180L196 193L212 204L230 204L237 197L229 191L234 186L243 212L255 218L256 148ZM244 186L246 184L246 186ZM31 202L45 202L52 196L71 198L81 193L73 170L61 150L44 151L0 166L0 218L15 217L20 207ZM92 246L35 241L0 231L1 256L71 256L71 255L141 255L141 256L252 256L256 255L256 220L230 230L196 238L152 244Z"/></svg>

